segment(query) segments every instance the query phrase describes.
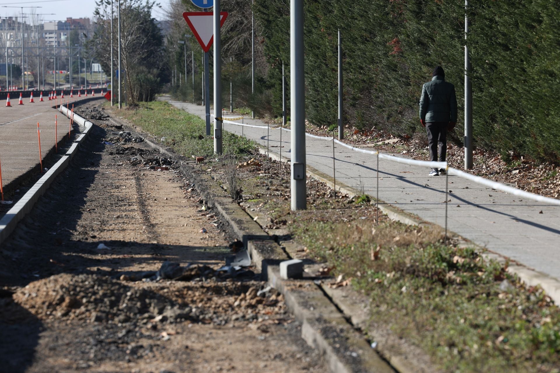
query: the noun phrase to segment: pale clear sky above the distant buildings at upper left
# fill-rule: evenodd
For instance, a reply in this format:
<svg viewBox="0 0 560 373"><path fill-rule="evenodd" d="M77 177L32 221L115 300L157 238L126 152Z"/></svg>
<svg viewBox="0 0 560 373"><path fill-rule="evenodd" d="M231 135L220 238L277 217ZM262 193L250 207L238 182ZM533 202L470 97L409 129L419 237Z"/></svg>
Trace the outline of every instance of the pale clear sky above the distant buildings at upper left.
<svg viewBox="0 0 560 373"><path fill-rule="evenodd" d="M158 0L161 6L166 9L169 6L169 0ZM0 0L0 16L15 16L21 13L21 8L2 8L2 6L11 7L33 7L40 6L36 13L55 13L55 15L41 16L43 20L66 20L67 17L72 18L93 18L95 10L95 0ZM29 13L29 8L24 8L24 13ZM152 16L157 20L165 19L165 13L159 8L155 8Z"/></svg>

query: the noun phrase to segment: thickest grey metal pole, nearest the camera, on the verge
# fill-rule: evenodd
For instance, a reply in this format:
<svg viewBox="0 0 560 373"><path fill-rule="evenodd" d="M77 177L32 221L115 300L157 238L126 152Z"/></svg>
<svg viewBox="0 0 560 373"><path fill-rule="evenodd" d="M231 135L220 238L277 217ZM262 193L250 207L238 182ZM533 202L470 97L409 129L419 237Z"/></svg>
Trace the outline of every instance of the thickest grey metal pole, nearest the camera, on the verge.
<svg viewBox="0 0 560 373"><path fill-rule="evenodd" d="M305 174L304 2L290 0L292 211L307 208Z"/></svg>

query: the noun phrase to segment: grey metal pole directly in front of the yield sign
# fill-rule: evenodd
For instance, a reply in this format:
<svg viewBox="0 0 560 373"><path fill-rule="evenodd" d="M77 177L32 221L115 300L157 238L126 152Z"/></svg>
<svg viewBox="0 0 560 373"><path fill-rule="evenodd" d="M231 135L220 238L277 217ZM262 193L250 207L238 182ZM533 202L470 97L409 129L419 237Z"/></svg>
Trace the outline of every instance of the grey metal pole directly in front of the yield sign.
<svg viewBox="0 0 560 373"><path fill-rule="evenodd" d="M222 154L222 54L220 0L214 0L214 153Z"/></svg>

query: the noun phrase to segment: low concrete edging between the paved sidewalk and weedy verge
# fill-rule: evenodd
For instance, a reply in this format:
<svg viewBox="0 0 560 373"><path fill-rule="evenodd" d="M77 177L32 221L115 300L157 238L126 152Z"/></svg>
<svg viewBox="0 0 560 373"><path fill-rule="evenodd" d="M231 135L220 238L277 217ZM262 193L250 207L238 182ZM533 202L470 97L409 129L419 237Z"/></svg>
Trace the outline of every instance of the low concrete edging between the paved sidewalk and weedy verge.
<svg viewBox="0 0 560 373"><path fill-rule="evenodd" d="M259 148L259 153L260 154L267 154L267 151L266 151L266 149ZM270 154L269 157L272 158L272 159L278 160L279 162L286 162L286 163L290 162L289 158L282 157L282 159L280 159L280 157L278 157L278 155L276 155L276 154ZM332 177L324 174L323 172L320 172L320 171L316 170L313 167L307 166L306 174L307 174L307 176L311 176L312 178L315 178L315 179L317 179L321 182L324 182L330 188L334 187ZM346 193L350 197L360 195L360 192L358 190L356 190L353 187L347 186L344 183L338 183L337 182L336 187L337 187L338 191L340 191L342 193ZM403 223L403 224L418 225L418 226L424 226L424 225L438 226L437 224L430 223L429 221L424 221L416 215L407 213L406 211L403 211L403 210L399 209L398 207L387 204L386 202L381 201L381 200L379 200L379 209L382 211L382 213L389 216L389 218L391 218L393 220L396 220L396 221L400 221L400 223ZM443 228L441 226L440 226L440 228L443 230ZM478 251L486 259L495 260L498 263L500 263L501 265L508 264L508 266L507 266L507 272L508 273L510 273L511 275L515 275L515 276L519 277L520 280L522 282L524 282L525 285L527 285L527 286L540 286L540 287L542 287L543 290L546 292L546 294L550 297L550 299L552 299L554 301L554 303L556 303L557 305L560 305L560 280L558 280L557 278L549 276L546 273L536 271L533 268L526 267L526 266L522 265L522 263L511 261L509 258L507 258L505 256L502 256L501 254L495 253L493 251L490 251L487 248L484 248L484 247L472 242L471 240L462 237L461 235L459 235L455 232L447 230L447 234L454 239L458 239L460 245L474 247L474 248L478 249Z"/></svg>

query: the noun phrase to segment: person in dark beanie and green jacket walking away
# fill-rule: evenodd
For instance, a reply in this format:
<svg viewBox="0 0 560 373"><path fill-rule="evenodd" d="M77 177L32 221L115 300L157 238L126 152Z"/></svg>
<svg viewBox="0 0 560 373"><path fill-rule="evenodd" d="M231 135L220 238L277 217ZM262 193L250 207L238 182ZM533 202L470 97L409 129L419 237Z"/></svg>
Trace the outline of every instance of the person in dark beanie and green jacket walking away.
<svg viewBox="0 0 560 373"><path fill-rule="evenodd" d="M441 66L432 73L432 80L422 86L420 97L420 123L428 134L428 148L432 162L445 162L447 153L447 131L457 122L457 97L455 86L445 81ZM444 168L432 168L430 176L445 175Z"/></svg>

